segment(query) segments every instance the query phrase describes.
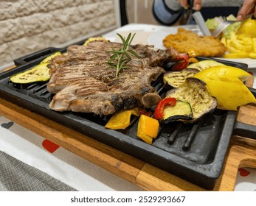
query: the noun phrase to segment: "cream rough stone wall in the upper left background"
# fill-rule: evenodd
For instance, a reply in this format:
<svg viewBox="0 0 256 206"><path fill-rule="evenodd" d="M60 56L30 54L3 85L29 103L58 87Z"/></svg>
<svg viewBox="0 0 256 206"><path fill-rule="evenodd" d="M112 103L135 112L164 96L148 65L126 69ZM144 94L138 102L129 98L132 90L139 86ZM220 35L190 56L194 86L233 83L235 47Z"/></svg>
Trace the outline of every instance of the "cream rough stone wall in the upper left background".
<svg viewBox="0 0 256 206"><path fill-rule="evenodd" d="M117 0L0 0L0 68L120 26Z"/></svg>

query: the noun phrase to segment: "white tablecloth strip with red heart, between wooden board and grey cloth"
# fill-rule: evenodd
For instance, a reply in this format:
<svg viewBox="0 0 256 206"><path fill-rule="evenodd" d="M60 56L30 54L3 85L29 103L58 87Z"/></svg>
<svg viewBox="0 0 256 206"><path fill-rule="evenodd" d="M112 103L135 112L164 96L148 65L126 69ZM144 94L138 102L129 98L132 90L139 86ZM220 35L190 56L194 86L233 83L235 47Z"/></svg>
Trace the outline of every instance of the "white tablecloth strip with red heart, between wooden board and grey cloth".
<svg viewBox="0 0 256 206"><path fill-rule="evenodd" d="M0 151L78 191L141 191L136 185L0 116ZM54 148L56 149L54 152ZM0 168L1 173L1 168ZM4 180L0 180L4 181Z"/></svg>

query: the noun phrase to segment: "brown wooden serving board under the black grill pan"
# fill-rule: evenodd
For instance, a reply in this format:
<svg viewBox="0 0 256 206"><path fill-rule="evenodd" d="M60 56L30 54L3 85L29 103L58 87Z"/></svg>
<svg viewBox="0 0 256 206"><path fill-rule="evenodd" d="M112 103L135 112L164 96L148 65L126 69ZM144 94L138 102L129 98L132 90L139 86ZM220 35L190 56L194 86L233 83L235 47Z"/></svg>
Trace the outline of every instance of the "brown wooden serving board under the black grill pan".
<svg viewBox="0 0 256 206"><path fill-rule="evenodd" d="M247 85L252 85L249 79ZM0 114L146 191L205 191L173 174L0 98ZM238 121L256 125L256 104L243 106ZM233 191L239 167L256 168L256 140L232 136L224 169L212 191Z"/></svg>

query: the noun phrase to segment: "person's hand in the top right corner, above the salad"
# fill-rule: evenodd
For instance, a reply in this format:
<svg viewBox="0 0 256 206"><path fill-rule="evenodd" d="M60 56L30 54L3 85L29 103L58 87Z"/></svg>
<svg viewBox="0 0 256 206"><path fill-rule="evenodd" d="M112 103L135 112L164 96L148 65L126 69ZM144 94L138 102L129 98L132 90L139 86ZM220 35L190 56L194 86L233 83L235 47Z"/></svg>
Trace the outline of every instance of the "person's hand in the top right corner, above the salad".
<svg viewBox="0 0 256 206"><path fill-rule="evenodd" d="M252 13L256 18L256 0L245 0L241 10L238 12L237 20L242 21L247 15Z"/></svg>

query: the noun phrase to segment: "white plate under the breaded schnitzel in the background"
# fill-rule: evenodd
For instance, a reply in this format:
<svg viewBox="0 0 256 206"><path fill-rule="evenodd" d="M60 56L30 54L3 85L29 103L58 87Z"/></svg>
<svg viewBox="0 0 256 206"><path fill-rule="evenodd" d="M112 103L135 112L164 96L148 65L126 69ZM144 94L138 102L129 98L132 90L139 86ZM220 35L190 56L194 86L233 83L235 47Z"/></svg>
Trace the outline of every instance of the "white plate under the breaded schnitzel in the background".
<svg viewBox="0 0 256 206"><path fill-rule="evenodd" d="M198 33L198 35L201 35L201 31L197 25L170 26L165 29L160 29L157 32L152 32L150 35L148 35L148 44L155 46L156 49L166 49L162 43L162 40L167 35L176 34L178 32L179 27L182 27L187 30L192 30L193 32ZM219 59L232 61L232 62L236 62L236 63L245 63L248 65L248 68L256 68L256 60L255 59L250 59L250 58L243 58L243 59L219 58Z"/></svg>

